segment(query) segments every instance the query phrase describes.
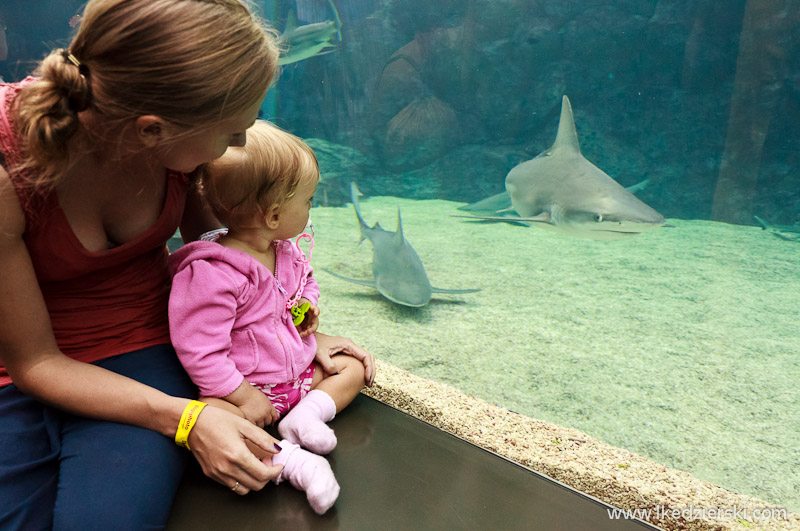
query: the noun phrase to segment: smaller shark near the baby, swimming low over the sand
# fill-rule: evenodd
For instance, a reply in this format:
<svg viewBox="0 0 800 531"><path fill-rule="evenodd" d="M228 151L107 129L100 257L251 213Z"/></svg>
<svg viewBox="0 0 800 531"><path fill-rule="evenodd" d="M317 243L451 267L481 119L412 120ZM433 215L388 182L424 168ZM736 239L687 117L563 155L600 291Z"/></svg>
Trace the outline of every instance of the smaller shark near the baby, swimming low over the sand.
<svg viewBox="0 0 800 531"><path fill-rule="evenodd" d="M384 230L379 223L375 223L370 228L361 216L358 194L356 184L350 183L350 196L361 229L361 239L358 243L364 241L364 238L372 242L374 280L356 280L324 269L326 273L354 284L373 287L390 301L414 308L428 304L434 293L463 294L480 291L479 289L449 290L432 287L425 268L422 266L422 260L419 259L408 240L403 237L400 208L397 209L397 232Z"/></svg>

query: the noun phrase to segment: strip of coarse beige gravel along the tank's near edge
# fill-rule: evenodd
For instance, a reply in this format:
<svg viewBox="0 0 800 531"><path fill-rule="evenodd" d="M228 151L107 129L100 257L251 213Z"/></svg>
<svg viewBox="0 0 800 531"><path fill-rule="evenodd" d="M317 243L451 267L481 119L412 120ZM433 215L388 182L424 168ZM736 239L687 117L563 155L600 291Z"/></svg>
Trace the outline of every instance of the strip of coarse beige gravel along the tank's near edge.
<svg viewBox="0 0 800 531"><path fill-rule="evenodd" d="M495 452L621 509L660 509L650 523L665 530L798 530L800 515L754 519L754 511L782 510L670 469L578 430L489 404L378 360L375 385L364 394L441 430ZM733 512L708 520L673 517L687 508ZM750 518L742 518L748 515ZM784 518L785 515L785 518ZM719 516L719 517L716 517Z"/></svg>

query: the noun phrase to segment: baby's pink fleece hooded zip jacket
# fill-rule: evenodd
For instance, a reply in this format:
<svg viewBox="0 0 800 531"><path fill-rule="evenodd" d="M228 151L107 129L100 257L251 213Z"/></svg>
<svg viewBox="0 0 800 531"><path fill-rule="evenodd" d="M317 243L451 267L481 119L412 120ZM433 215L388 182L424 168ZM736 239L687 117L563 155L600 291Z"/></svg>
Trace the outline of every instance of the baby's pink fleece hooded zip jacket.
<svg viewBox="0 0 800 531"><path fill-rule="evenodd" d="M300 339L286 309L300 286L304 255L288 240L275 244L275 275L249 254L215 242L192 242L170 256L170 336L204 396L227 396L244 378L286 383L314 360L314 336ZM319 300L310 267L302 296Z"/></svg>

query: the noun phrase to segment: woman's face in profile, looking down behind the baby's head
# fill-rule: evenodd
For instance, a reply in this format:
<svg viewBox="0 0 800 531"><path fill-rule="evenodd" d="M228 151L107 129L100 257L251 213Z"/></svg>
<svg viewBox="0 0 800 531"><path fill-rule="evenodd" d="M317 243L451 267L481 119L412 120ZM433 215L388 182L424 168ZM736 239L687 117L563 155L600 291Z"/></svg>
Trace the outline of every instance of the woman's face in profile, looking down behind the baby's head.
<svg viewBox="0 0 800 531"><path fill-rule="evenodd" d="M244 146L247 142L245 131L255 123L260 107L259 100L249 109L209 130L178 140L165 150L162 163L171 170L190 173L201 164L221 157L229 146Z"/></svg>

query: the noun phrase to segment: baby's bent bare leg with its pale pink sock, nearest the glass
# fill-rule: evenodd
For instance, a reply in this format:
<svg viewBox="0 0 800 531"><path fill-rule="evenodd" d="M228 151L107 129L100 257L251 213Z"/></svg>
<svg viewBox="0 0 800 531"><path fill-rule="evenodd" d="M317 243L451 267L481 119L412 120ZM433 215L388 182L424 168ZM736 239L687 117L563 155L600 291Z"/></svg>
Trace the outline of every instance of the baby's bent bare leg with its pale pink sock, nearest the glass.
<svg viewBox="0 0 800 531"><path fill-rule="evenodd" d="M336 447L336 435L326 422L344 409L364 387L364 365L352 356L333 357L339 372L325 375L315 364L311 392L278 424L281 437L318 454Z"/></svg>

